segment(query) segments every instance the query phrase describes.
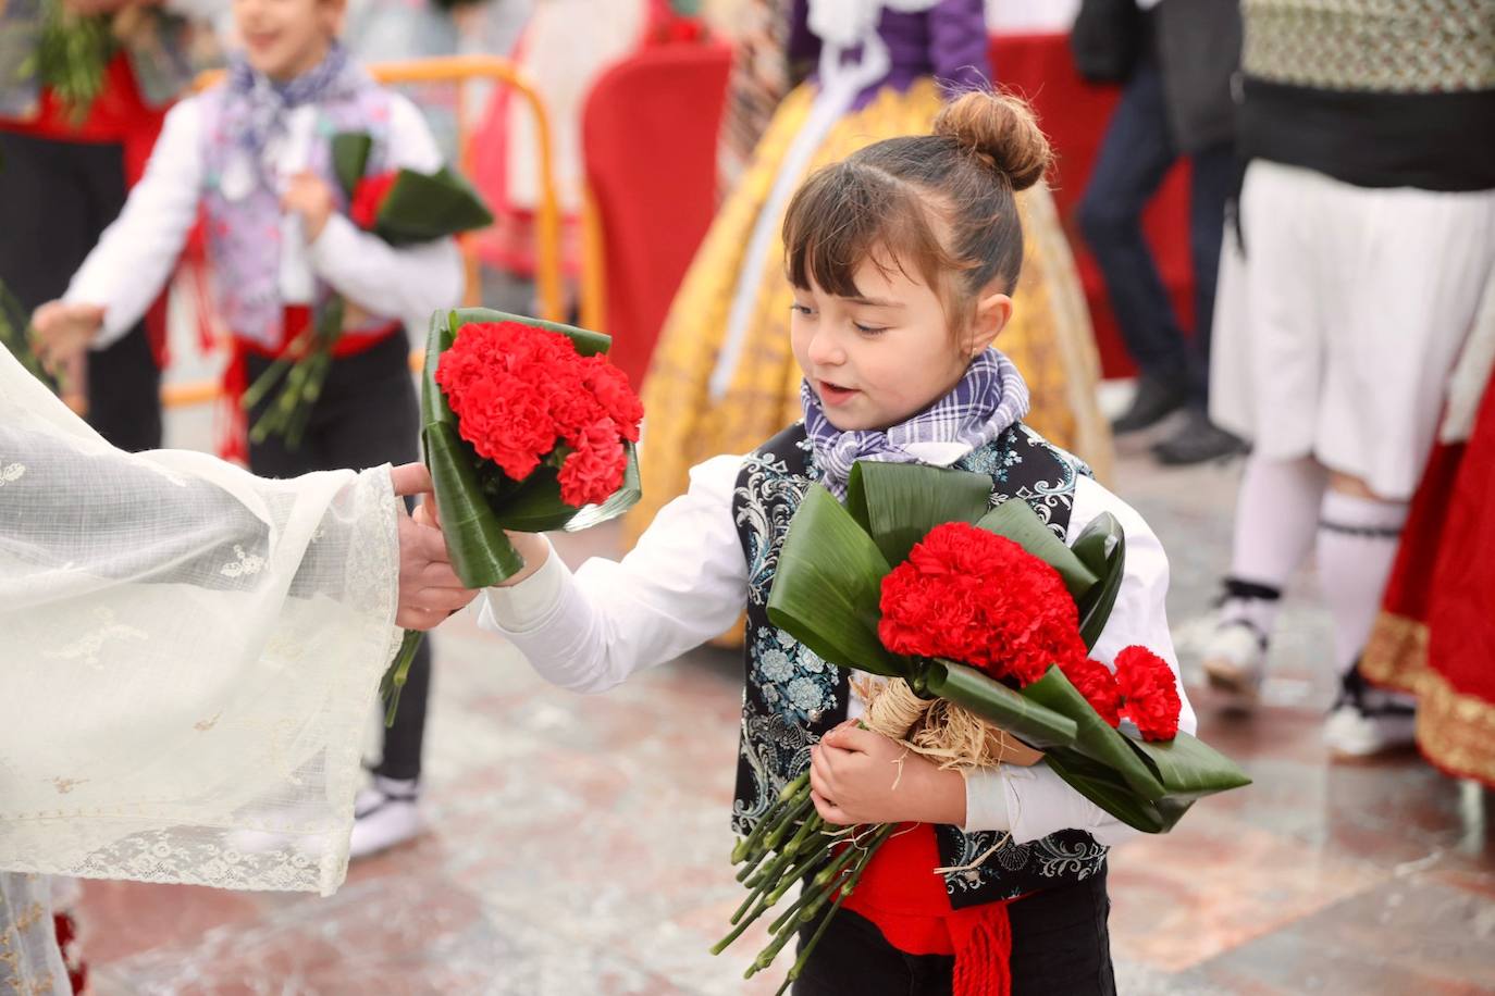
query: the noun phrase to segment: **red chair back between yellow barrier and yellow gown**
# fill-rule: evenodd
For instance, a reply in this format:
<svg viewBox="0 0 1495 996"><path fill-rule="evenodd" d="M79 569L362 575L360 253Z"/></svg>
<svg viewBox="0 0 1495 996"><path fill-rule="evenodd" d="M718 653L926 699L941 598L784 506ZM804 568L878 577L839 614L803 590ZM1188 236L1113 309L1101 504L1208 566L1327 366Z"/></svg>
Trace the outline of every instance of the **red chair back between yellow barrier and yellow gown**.
<svg viewBox="0 0 1495 996"><path fill-rule="evenodd" d="M597 81L582 113L582 324L613 336L608 355L634 384L716 214L731 61L715 42L646 46Z"/></svg>

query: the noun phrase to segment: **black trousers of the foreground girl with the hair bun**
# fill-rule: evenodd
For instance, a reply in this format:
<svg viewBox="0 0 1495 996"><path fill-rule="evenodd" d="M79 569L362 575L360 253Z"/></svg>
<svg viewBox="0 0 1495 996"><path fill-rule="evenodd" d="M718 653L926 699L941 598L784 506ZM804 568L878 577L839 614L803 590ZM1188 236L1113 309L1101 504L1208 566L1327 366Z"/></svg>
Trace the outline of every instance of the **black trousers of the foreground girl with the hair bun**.
<svg viewBox="0 0 1495 996"><path fill-rule="evenodd" d="M1008 905L1012 996L1115 996L1106 874ZM815 924L800 932L800 944ZM842 909L825 929L794 996L948 996L955 959L904 954L864 917Z"/></svg>

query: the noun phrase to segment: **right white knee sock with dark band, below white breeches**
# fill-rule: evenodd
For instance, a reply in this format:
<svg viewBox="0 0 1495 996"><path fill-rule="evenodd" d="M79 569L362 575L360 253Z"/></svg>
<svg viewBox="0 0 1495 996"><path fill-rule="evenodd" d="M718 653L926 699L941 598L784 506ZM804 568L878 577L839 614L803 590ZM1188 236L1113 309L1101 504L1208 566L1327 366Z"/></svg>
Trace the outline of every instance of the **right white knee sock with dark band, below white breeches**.
<svg viewBox="0 0 1495 996"><path fill-rule="evenodd" d="M1329 491L1319 523L1319 578L1334 618L1334 660L1343 676L1365 650L1392 573L1405 502Z"/></svg>

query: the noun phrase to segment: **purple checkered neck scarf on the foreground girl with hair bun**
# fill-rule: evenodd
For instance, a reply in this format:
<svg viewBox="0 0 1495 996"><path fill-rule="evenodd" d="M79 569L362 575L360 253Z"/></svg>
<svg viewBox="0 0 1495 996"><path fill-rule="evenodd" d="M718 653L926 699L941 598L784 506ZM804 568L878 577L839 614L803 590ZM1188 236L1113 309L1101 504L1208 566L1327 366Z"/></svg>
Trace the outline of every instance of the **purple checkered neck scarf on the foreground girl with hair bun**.
<svg viewBox="0 0 1495 996"><path fill-rule="evenodd" d="M996 349L970 361L966 375L948 394L907 421L888 429L840 432L825 418L810 382L800 387L804 430L815 448L821 484L839 499L858 460L919 463L904 446L921 442L954 442L976 449L991 442L1027 415L1029 391L1023 375Z"/></svg>

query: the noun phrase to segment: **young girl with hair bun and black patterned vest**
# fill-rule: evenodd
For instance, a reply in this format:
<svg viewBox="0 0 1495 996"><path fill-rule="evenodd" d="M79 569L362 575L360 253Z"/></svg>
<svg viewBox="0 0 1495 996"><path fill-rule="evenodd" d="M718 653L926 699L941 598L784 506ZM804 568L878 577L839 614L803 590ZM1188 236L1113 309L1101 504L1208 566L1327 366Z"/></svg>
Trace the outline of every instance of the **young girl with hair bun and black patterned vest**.
<svg viewBox="0 0 1495 996"><path fill-rule="evenodd" d="M1014 993L1115 989L1106 847L1129 830L1042 763L961 776L846 724L861 712L849 675L765 612L779 548L812 484L842 494L855 460L918 461L990 475L994 505L1029 502L1066 542L1114 514L1127 536L1126 578L1093 657L1109 664L1142 644L1172 660L1157 538L1084 464L1023 426L1027 388L991 348L1012 317L1023 260L1014 196L1048 158L1021 102L969 93L934 134L878 142L815 173L783 227L804 420L746 457L697 466L689 491L620 563L592 560L573 575L544 538L516 536L528 566L486 596L483 624L577 691L676 657L746 606L737 832L806 768L831 823L937 824L931 875L966 866L931 880L948 909L921 920L854 896L798 981L801 996L1002 992L994 980L1008 971ZM1181 729L1193 727L1186 700ZM1000 942L976 942L973 917L999 935L1011 923L1011 957Z"/></svg>

